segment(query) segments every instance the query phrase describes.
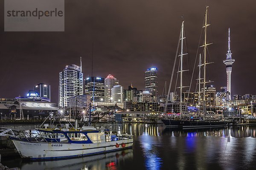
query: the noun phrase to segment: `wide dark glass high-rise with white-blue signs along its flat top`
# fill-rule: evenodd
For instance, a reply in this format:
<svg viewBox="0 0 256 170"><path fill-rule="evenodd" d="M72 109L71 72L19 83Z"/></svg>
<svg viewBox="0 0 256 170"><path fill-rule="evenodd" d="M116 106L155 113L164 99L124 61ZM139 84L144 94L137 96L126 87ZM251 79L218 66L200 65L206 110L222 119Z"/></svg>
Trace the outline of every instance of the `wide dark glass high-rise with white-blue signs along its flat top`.
<svg viewBox="0 0 256 170"><path fill-rule="evenodd" d="M84 94L90 95L91 101L104 101L104 84L105 79L102 77L87 77L84 83Z"/></svg>

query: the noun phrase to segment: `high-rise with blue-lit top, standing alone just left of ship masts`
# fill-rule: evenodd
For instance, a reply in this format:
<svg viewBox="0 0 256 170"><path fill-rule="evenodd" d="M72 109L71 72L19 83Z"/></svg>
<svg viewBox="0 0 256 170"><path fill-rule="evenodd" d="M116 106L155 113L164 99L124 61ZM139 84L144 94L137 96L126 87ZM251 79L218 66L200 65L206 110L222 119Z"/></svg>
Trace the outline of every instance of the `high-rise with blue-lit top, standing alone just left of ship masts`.
<svg viewBox="0 0 256 170"><path fill-rule="evenodd" d="M153 102L157 102L158 83L157 68L148 68L145 71L145 91L149 91L153 96Z"/></svg>

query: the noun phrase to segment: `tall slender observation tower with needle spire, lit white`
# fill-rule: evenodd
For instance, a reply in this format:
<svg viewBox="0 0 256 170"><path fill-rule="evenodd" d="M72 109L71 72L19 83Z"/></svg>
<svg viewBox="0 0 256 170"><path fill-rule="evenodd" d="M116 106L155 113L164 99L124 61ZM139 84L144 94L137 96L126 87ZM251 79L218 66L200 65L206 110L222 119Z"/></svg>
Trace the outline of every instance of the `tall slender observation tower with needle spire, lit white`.
<svg viewBox="0 0 256 170"><path fill-rule="evenodd" d="M230 28L228 28L228 49L227 49L227 59L223 60L226 65L227 71L227 92L229 93L229 100L231 100L231 71L232 64L235 62L235 59L232 58L232 53L230 50Z"/></svg>

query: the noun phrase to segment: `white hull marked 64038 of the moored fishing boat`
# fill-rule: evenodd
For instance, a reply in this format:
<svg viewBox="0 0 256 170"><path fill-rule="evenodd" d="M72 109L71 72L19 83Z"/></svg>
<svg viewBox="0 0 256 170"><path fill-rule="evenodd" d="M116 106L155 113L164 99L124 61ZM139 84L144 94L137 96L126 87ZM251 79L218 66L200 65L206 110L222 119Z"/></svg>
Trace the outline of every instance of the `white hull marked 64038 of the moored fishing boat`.
<svg viewBox="0 0 256 170"><path fill-rule="evenodd" d="M12 141L21 158L31 160L68 159L73 157L89 156L113 152L116 150L124 150L131 148L133 145L133 139L93 144L23 142L19 140ZM119 144L119 147L117 147L116 144Z"/></svg>

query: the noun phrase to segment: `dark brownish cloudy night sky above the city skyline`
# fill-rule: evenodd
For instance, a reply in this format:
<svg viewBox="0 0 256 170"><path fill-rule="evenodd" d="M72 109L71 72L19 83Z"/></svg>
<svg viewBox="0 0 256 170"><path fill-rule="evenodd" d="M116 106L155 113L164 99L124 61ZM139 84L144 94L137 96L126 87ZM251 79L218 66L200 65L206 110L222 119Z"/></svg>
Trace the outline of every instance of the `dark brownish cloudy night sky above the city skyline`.
<svg viewBox="0 0 256 170"><path fill-rule="evenodd" d="M58 102L58 74L65 65L80 65L84 78L112 74L125 89L144 88L144 71L158 68L159 94L170 81L184 15L190 65L194 65L205 6L209 6L207 79L217 91L226 86L223 60L228 28L231 52L232 95L256 94L255 0L65 0L64 32L4 32L3 3L0 20L0 97L25 96L40 82L51 85ZM191 68L192 72L192 68ZM195 82L195 80L194 80ZM172 91L174 91L172 89Z"/></svg>

